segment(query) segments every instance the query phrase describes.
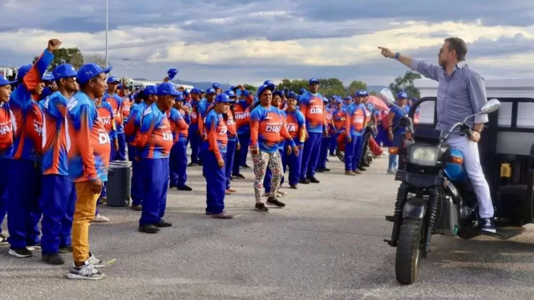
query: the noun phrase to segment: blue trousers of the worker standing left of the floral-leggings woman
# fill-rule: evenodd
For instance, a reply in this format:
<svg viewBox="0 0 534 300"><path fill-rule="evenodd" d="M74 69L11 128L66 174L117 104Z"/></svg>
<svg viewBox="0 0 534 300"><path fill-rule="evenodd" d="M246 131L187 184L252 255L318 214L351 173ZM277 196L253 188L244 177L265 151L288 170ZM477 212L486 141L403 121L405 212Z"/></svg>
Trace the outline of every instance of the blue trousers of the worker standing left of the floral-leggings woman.
<svg viewBox="0 0 534 300"><path fill-rule="evenodd" d="M206 169L206 212L220 214L224 210L224 192L226 190L226 169L219 168L213 151L204 151ZM226 153L221 153L226 160Z"/></svg>

